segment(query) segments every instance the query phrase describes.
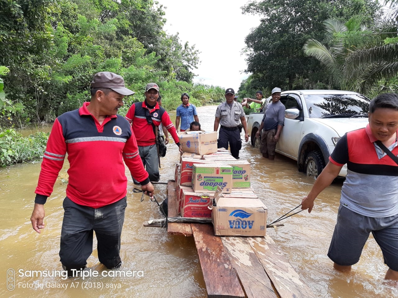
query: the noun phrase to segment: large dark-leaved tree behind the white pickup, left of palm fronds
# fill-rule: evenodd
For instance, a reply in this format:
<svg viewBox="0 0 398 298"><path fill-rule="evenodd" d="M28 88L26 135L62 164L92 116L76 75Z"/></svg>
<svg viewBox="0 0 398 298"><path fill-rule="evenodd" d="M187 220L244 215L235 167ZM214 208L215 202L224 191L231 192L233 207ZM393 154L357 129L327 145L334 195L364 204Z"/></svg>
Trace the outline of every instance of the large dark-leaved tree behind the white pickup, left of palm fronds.
<svg viewBox="0 0 398 298"><path fill-rule="evenodd" d="M242 10L262 16L245 40L246 72L255 74L261 86L291 89L302 79L311 80L310 86L330 83L320 62L302 52L308 39L324 39L323 21L361 14L363 23L371 24L380 5L372 0L270 0L250 2Z"/></svg>

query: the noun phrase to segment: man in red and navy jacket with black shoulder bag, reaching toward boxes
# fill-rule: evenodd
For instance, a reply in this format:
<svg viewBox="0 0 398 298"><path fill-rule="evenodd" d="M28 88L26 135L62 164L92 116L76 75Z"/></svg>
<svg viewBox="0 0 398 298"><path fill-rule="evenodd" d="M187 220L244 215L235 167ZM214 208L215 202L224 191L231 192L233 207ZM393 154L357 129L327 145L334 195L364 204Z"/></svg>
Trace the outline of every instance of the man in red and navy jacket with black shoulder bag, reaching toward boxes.
<svg viewBox="0 0 398 298"><path fill-rule="evenodd" d="M157 99L159 97L159 86L149 83L145 87L145 100L134 103L127 112L126 119L131 123L133 132L137 138L138 149L142 164L148 171L150 181L159 181L159 160L156 148L156 136L154 130L162 123L163 127L173 137L174 142L182 152L181 144L177 135L176 127L170 120L169 114L162 108ZM134 179L134 183L138 183Z"/></svg>

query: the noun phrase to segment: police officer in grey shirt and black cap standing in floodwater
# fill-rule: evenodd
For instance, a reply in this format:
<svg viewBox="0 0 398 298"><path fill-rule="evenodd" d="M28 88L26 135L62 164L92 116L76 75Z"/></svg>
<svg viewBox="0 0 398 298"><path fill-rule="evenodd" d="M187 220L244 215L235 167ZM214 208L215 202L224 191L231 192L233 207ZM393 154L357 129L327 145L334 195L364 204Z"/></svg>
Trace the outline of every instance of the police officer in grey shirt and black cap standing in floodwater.
<svg viewBox="0 0 398 298"><path fill-rule="evenodd" d="M214 120L214 131L220 127L219 139L217 140L217 148L228 149L228 142L231 154L234 158L239 158L239 150L242 148L242 140L240 139L239 124L242 123L245 131L245 141L249 140L247 133L246 118L243 107L237 101L234 101L235 92L232 88L225 90L225 99L216 110Z"/></svg>

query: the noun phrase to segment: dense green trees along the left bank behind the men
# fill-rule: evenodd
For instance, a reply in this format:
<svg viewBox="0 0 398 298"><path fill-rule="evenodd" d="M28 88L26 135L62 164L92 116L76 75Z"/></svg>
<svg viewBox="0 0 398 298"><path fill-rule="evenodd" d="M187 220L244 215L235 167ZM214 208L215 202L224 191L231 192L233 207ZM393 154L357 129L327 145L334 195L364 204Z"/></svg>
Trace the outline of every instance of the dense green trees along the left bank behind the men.
<svg viewBox="0 0 398 298"><path fill-rule="evenodd" d="M0 15L0 66L9 70L0 72L3 127L51 122L76 109L98 71L121 74L136 92L126 111L149 82L160 85L166 109L183 92L201 90L197 105L223 98L193 85L199 52L163 31L164 10L153 0L0 0Z"/></svg>

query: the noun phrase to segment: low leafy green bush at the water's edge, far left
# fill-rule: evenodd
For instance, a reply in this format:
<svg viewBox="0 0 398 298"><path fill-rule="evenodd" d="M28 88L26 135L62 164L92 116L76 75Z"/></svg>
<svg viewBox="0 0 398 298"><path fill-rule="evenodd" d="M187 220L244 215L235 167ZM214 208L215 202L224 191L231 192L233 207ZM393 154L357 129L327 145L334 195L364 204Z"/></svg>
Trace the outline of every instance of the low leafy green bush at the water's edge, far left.
<svg viewBox="0 0 398 298"><path fill-rule="evenodd" d="M23 137L14 129L0 129L0 166L4 168L19 162L40 160L48 137L45 132Z"/></svg>

